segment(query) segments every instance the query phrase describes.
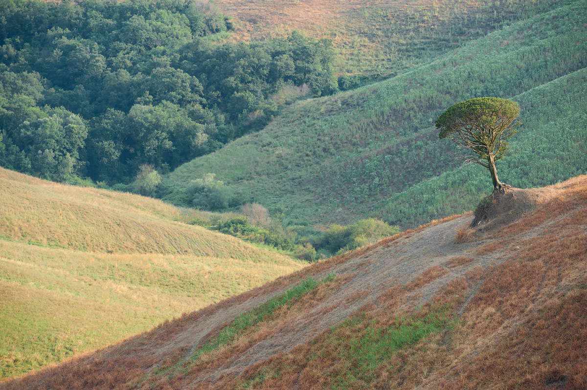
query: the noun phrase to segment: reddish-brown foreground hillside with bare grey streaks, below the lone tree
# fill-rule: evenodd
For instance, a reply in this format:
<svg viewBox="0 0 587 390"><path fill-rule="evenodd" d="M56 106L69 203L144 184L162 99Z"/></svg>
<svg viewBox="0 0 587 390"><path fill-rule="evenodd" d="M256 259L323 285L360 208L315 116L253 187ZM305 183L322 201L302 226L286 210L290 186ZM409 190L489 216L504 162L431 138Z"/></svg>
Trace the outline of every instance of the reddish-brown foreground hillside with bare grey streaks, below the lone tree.
<svg viewBox="0 0 587 390"><path fill-rule="evenodd" d="M585 389L587 176L535 194L544 191L548 200L470 242L456 236L473 215L438 221L0 387ZM237 314L330 272L332 282L188 359ZM447 325L357 358L366 340L426 316Z"/></svg>

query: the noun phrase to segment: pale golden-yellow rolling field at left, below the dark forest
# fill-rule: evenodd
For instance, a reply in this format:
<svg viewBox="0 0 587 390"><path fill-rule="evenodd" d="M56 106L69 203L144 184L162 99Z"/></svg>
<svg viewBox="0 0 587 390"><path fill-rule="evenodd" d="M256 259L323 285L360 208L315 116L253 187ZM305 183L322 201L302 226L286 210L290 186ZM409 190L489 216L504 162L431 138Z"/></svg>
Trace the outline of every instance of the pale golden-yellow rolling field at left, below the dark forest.
<svg viewBox="0 0 587 390"><path fill-rule="evenodd" d="M303 267L143 196L0 169L0 199L0 381Z"/></svg>

